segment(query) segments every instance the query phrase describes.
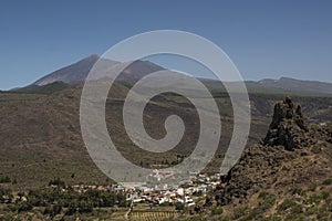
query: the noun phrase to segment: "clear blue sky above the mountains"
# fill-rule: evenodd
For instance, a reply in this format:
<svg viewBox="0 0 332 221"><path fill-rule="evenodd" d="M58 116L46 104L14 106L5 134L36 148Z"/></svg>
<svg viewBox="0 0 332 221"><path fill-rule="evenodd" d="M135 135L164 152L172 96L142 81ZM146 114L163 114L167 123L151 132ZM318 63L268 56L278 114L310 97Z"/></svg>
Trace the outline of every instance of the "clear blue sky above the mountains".
<svg viewBox="0 0 332 221"><path fill-rule="evenodd" d="M332 1L0 2L0 90L152 30L175 29L219 45L245 80L332 82Z"/></svg>

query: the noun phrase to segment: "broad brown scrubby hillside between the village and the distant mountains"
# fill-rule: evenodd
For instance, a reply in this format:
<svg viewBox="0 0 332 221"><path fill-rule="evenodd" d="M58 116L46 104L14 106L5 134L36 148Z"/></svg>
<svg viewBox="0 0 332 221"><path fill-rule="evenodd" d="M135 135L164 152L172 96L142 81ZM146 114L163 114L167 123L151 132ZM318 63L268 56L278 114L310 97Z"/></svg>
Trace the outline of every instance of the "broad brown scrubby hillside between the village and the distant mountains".
<svg viewBox="0 0 332 221"><path fill-rule="evenodd" d="M61 177L66 182L104 182L102 175L84 147L79 122L79 107L82 86L45 85L29 92L2 92L0 94L0 176L17 179L17 188L43 186L53 177ZM52 87L53 86L53 87ZM52 93L44 93L45 91ZM41 93L42 92L42 93ZM172 152L156 156L142 152L126 136L122 123L123 97L128 88L115 84L106 105L107 127L123 154L137 165L144 162L176 161L178 154L188 155L195 146L197 125L196 112L189 102L176 95L162 95L146 108L146 128L152 136L163 137L164 119L169 114L179 114L187 126L187 135ZM266 134L272 114L272 105L283 95L261 96L250 94L252 123L249 144L258 143ZM313 122L331 119L332 99L329 97L293 97L303 104L303 112ZM227 94L216 97L222 120L222 137L219 152L208 171L216 171L221 162L225 148L232 129L232 112ZM142 159L142 156L145 156ZM74 178L71 178L72 175Z"/></svg>

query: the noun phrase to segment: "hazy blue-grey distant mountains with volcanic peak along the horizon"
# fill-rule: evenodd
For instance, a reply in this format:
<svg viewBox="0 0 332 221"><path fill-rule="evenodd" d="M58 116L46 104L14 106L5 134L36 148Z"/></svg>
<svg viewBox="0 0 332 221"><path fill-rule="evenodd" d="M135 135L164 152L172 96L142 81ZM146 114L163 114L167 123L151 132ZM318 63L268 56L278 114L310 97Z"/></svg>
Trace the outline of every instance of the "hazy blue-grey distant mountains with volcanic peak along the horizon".
<svg viewBox="0 0 332 221"><path fill-rule="evenodd" d="M84 83L89 75L89 72L93 65L98 63L98 67L107 70L107 72L117 72L121 67L121 62L101 59L96 54L92 54L74 64L60 69L38 80L28 87L44 86L54 82L63 82L65 84L74 85ZM135 61L133 62L122 74L117 81L133 83L143 76L165 70L164 67L154 64L148 61ZM212 80L203 80L205 82L212 83ZM258 82L246 81L248 91L274 91L274 92L305 92L305 93L319 93L319 94L332 94L332 83L318 82L318 81L301 81L290 77L281 77L279 80L266 78Z"/></svg>

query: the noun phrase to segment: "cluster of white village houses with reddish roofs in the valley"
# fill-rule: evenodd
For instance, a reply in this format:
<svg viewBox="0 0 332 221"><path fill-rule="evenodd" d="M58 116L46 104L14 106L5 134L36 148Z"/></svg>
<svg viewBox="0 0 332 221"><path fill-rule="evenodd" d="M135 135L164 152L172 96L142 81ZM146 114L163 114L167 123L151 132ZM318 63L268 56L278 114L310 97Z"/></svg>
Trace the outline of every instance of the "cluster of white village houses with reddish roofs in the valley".
<svg viewBox="0 0 332 221"><path fill-rule="evenodd" d="M151 176L156 180L172 176L172 172L162 175L155 170ZM113 186L72 186L76 191L86 191L87 189L97 189L101 191L122 191L126 193L128 201L133 203L148 203L149 206L176 204L181 203L185 207L195 206L195 200L205 197L207 191L215 189L220 183L220 175L207 176L205 173L193 172L190 179L181 181L178 186L142 183L124 183Z"/></svg>

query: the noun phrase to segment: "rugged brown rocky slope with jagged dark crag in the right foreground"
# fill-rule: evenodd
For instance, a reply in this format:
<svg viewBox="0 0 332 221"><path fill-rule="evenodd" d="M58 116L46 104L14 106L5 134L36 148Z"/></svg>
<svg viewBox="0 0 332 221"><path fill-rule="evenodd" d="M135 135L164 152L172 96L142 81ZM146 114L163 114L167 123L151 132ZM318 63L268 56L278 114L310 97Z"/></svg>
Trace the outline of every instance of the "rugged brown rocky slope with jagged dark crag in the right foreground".
<svg viewBox="0 0 332 221"><path fill-rule="evenodd" d="M308 125L288 97L259 145L247 148L211 193L232 220L331 220L332 125Z"/></svg>

